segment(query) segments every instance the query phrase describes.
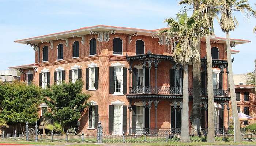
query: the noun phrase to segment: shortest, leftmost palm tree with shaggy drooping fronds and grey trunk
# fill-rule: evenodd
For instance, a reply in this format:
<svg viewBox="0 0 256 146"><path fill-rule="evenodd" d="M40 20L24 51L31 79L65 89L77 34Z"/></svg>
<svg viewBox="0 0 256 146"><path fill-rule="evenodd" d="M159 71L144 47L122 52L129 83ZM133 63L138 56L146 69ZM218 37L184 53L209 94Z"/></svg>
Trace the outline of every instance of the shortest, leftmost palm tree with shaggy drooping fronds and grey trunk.
<svg viewBox="0 0 256 146"><path fill-rule="evenodd" d="M183 99L182 99L182 121L181 121L181 138L180 141L188 142L189 138L189 117L188 117L188 65L195 60L200 60L200 53L196 49L198 40L203 37L204 30L198 30L200 22L189 18L184 12L177 14L177 19L168 18L165 20L168 30L163 30L173 49L174 61L183 66ZM177 45L172 45L178 41Z"/></svg>

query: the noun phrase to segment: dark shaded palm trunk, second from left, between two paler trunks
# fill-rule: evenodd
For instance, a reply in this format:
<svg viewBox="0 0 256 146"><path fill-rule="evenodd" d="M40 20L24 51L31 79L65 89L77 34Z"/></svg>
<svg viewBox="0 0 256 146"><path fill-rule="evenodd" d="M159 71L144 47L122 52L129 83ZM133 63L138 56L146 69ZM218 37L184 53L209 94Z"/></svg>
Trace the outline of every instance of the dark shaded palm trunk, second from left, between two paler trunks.
<svg viewBox="0 0 256 146"><path fill-rule="evenodd" d="M197 50L201 51L201 42L197 45ZM201 134L201 61L193 62L193 108L191 113L191 134Z"/></svg>

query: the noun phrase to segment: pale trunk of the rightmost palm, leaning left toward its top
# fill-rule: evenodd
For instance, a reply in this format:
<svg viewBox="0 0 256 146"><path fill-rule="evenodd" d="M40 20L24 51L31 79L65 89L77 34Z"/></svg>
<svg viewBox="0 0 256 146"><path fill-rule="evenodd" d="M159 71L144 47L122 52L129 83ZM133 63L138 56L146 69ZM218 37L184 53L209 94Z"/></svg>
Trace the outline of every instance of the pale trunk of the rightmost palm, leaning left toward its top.
<svg viewBox="0 0 256 146"><path fill-rule="evenodd" d="M231 62L229 32L226 32L226 44L227 44L227 65L229 67L229 89L230 89L232 116L233 116L233 122L236 123L236 125L234 126L234 131L236 131L236 133L234 133L236 134L236 137L234 138L234 142L242 142L240 123L238 120L237 101L236 101L235 85L234 85L234 78L233 78L232 62Z"/></svg>

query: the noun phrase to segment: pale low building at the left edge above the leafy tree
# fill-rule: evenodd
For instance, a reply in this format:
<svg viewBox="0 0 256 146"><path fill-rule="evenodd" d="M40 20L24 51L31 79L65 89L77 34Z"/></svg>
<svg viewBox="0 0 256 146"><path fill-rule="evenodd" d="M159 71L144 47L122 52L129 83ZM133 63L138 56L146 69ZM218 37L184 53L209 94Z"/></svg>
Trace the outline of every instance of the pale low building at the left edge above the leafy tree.
<svg viewBox="0 0 256 146"><path fill-rule="evenodd" d="M15 80L20 80L20 76L18 76L18 70L14 70L14 69L0 70L0 80L4 82L12 82Z"/></svg>

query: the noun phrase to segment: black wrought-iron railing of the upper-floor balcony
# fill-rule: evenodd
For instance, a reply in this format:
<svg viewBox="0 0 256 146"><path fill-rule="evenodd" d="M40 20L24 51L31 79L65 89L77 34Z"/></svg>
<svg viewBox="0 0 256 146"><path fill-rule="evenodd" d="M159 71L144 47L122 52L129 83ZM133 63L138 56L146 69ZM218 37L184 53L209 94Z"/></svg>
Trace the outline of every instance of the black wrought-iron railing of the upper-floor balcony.
<svg viewBox="0 0 256 146"><path fill-rule="evenodd" d="M213 90L214 96L217 97L229 97L228 90ZM181 87L130 87L129 94L160 94L160 95L180 95L183 94L183 88ZM193 88L188 89L189 96L193 96ZM207 96L207 89L201 89L201 96Z"/></svg>

